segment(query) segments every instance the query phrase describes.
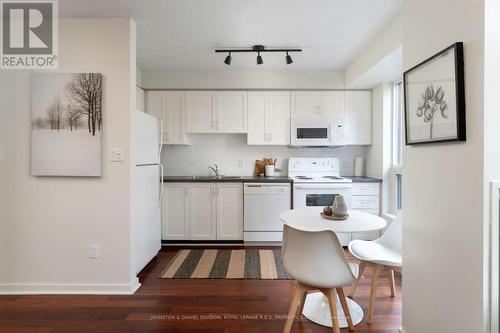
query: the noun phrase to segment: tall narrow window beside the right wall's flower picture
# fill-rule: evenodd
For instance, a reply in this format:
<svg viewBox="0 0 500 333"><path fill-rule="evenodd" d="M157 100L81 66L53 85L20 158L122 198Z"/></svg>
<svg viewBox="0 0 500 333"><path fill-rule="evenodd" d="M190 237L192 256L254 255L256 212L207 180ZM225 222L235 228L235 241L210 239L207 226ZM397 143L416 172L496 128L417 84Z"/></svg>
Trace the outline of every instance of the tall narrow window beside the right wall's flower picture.
<svg viewBox="0 0 500 333"><path fill-rule="evenodd" d="M403 186L403 84L401 81L394 83L392 96L392 211L402 208Z"/></svg>

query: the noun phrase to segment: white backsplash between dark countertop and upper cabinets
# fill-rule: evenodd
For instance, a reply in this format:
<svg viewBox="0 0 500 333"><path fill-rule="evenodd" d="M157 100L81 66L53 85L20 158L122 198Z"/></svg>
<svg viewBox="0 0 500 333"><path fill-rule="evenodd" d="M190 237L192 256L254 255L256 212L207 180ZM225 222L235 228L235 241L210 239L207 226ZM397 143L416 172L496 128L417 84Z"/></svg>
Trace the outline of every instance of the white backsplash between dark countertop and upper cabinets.
<svg viewBox="0 0 500 333"><path fill-rule="evenodd" d="M365 155L365 147L346 146L342 148L288 148L287 146L249 146L244 134L190 134L190 146L163 146L162 163L165 175L206 175L207 166L217 163L225 175L252 176L255 160L264 157L278 159L277 166L287 175L290 157L338 157L347 161L341 163L341 173L354 174L354 158ZM243 167L238 167L238 161ZM342 168L343 167L343 168Z"/></svg>

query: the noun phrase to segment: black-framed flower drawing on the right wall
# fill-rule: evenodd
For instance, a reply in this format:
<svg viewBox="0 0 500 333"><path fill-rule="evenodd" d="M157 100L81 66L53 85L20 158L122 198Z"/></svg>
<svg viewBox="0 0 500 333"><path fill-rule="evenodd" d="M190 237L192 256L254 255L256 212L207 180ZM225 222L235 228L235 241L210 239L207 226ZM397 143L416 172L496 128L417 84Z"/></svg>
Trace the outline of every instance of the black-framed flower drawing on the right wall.
<svg viewBox="0 0 500 333"><path fill-rule="evenodd" d="M404 72L406 144L465 141L463 43Z"/></svg>

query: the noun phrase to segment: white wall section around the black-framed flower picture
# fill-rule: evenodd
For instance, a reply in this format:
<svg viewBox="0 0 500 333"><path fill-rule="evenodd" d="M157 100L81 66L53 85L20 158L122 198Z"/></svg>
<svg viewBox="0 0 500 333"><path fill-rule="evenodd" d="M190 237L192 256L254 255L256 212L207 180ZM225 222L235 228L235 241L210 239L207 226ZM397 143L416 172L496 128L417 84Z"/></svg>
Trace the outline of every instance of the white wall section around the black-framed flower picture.
<svg viewBox="0 0 500 333"><path fill-rule="evenodd" d="M464 42L467 105L467 142L403 151L403 329L484 332L484 1L406 0L402 15L405 69Z"/></svg>

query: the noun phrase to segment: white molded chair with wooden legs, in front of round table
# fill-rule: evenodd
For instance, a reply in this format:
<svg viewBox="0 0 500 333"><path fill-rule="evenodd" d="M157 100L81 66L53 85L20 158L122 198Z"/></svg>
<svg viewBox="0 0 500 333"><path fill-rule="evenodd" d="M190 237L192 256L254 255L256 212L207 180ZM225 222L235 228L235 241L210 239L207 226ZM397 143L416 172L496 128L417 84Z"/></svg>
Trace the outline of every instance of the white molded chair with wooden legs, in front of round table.
<svg viewBox="0 0 500 333"><path fill-rule="evenodd" d="M285 270L297 280L284 333L290 332L297 311L302 314L310 290L319 290L328 298L334 333L340 332L335 296L337 292L349 330L354 330L342 287L353 283L357 265L349 264L335 232L305 231L285 224L281 258Z"/></svg>

